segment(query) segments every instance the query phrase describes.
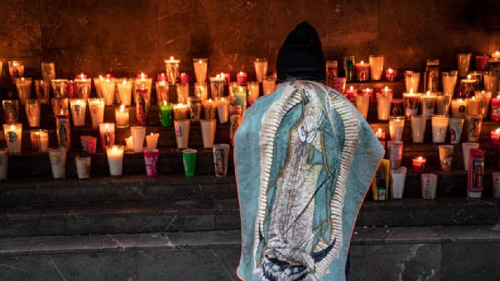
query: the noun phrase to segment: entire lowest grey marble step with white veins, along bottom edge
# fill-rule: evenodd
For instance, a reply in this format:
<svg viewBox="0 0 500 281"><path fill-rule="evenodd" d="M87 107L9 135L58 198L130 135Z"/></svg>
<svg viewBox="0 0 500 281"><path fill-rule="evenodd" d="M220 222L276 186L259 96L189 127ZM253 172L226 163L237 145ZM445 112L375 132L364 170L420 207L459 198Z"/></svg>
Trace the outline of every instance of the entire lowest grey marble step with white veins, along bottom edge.
<svg viewBox="0 0 500 281"><path fill-rule="evenodd" d="M498 280L499 250L490 225L356 228L349 280ZM239 231L3 238L0 276L236 281L240 251Z"/></svg>

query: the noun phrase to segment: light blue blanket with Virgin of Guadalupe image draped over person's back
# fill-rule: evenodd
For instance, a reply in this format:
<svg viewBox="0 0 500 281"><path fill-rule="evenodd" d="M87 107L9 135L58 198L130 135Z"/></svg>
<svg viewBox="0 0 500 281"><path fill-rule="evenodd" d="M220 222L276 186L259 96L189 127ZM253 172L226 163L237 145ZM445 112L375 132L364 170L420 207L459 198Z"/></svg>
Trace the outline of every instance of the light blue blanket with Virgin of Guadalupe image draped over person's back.
<svg viewBox="0 0 500 281"><path fill-rule="evenodd" d="M259 98L235 135L245 281L344 281L357 212L383 155L341 94L296 80Z"/></svg>

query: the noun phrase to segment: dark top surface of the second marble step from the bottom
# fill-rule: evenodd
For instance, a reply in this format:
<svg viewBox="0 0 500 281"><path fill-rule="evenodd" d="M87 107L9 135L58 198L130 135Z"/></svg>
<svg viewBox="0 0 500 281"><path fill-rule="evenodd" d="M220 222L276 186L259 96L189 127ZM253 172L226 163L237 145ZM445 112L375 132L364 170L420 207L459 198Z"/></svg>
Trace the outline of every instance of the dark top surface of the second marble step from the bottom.
<svg viewBox="0 0 500 281"><path fill-rule="evenodd" d="M389 201L365 201L360 207L359 217L364 213L403 212L411 210L449 211L479 210L494 215L500 205L500 199L482 198L468 199L456 197L439 197L436 200L405 198ZM4 220L31 220L43 218L76 218L78 216L121 216L139 214L158 215L237 215L239 203L237 199L182 200L182 201L148 201L126 203L77 203L52 205L16 205L0 208L0 222ZM498 213L496 212L498 217Z"/></svg>

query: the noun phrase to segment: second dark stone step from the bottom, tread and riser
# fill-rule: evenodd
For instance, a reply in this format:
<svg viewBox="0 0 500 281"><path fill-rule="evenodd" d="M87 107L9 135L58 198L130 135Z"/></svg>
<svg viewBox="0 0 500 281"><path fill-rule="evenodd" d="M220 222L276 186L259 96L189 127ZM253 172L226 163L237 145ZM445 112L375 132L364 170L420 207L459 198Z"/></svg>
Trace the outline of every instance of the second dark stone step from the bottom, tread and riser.
<svg viewBox="0 0 500 281"><path fill-rule="evenodd" d="M358 226L475 225L498 222L500 200L439 198L365 202ZM218 231L240 228L235 199L9 206L0 237Z"/></svg>

